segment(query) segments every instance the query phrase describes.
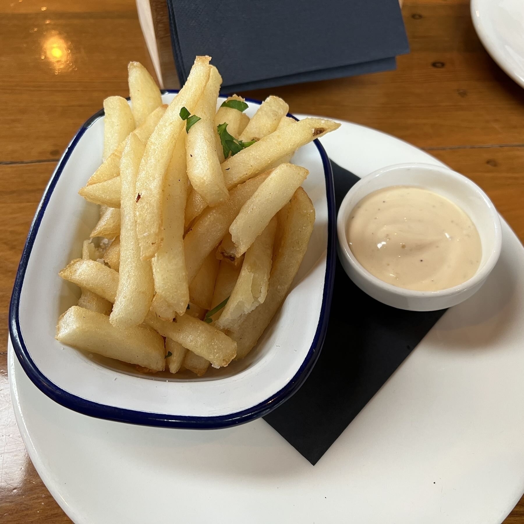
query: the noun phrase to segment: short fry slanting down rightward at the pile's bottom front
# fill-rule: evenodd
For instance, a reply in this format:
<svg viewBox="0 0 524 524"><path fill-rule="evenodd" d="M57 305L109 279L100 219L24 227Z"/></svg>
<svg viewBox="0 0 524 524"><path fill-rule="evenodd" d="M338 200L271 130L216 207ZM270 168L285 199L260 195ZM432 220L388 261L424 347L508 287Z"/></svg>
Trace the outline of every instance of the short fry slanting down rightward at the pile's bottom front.
<svg viewBox="0 0 524 524"><path fill-rule="evenodd" d="M195 319L190 315L181 315L176 321L159 319L149 312L146 324L196 355L208 359L213 367L227 366L236 355L236 344L214 326Z"/></svg>

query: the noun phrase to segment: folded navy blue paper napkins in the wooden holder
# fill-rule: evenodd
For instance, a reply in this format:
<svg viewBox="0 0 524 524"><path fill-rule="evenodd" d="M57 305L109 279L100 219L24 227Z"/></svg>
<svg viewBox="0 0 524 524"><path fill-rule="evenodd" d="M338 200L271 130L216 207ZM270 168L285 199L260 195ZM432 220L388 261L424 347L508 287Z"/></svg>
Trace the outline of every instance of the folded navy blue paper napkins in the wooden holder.
<svg viewBox="0 0 524 524"><path fill-rule="evenodd" d="M167 0L181 84L209 54L223 90L393 69L409 51L398 0Z"/></svg>

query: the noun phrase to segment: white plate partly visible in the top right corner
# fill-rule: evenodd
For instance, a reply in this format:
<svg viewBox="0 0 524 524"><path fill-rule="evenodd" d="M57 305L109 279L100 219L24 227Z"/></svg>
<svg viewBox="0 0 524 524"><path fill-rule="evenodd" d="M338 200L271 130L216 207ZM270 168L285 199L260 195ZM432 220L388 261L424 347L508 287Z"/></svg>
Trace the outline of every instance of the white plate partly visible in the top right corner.
<svg viewBox="0 0 524 524"><path fill-rule="evenodd" d="M524 88L524 2L471 0L478 38L493 60Z"/></svg>

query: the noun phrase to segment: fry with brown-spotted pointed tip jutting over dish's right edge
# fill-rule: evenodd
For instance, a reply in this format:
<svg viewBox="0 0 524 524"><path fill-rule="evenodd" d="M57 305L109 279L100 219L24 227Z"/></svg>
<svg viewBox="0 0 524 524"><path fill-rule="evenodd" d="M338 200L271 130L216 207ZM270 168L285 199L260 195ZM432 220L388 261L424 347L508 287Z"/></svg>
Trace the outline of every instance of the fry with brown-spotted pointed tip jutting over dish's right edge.
<svg viewBox="0 0 524 524"><path fill-rule="evenodd" d="M339 123L331 120L304 118L293 125L275 130L222 163L227 189L252 178L276 160L339 127Z"/></svg>

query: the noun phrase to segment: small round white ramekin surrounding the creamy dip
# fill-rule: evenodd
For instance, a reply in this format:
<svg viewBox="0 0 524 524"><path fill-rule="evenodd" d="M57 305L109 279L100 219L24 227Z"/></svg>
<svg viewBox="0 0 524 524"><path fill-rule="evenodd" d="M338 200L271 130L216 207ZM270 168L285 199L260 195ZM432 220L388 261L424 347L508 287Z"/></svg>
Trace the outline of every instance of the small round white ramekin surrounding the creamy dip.
<svg viewBox="0 0 524 524"><path fill-rule="evenodd" d="M347 243L347 221L364 196L392 185L413 185L441 194L460 206L477 227L482 243L482 259L475 275L459 286L439 291L412 291L383 282L359 264ZM374 299L394 308L434 311L459 304L483 285L500 255L500 219L488 196L470 179L451 169L423 163L388 166L359 180L344 197L337 216L339 258L347 275Z"/></svg>

